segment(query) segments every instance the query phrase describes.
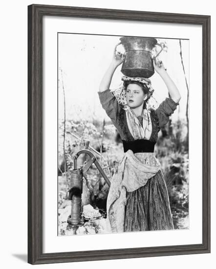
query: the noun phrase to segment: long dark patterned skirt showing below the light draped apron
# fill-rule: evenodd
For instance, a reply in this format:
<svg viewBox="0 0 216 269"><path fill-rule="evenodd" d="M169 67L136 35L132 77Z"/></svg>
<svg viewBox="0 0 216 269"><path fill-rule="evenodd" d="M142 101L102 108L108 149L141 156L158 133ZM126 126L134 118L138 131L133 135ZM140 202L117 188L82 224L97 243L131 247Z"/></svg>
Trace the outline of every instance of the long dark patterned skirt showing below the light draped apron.
<svg viewBox="0 0 216 269"><path fill-rule="evenodd" d="M166 182L162 172L145 186L127 192L125 232L173 229Z"/></svg>

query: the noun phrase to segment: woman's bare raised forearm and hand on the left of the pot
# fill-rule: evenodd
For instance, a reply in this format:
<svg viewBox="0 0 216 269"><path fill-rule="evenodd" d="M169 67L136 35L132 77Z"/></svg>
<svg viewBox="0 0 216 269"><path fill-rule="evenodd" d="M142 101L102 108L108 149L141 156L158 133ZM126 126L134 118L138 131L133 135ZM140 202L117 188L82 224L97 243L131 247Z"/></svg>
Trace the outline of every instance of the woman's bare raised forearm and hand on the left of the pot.
<svg viewBox="0 0 216 269"><path fill-rule="evenodd" d="M119 44L121 44L121 43L118 43L117 45L119 45ZM101 83L99 86L99 91L104 91L104 90L109 89L109 86L110 86L112 76L114 74L115 69L119 65L121 65L123 60L124 60L124 54L116 51L117 45L114 47L111 64L109 65L106 73L104 74L104 76L101 80Z"/></svg>

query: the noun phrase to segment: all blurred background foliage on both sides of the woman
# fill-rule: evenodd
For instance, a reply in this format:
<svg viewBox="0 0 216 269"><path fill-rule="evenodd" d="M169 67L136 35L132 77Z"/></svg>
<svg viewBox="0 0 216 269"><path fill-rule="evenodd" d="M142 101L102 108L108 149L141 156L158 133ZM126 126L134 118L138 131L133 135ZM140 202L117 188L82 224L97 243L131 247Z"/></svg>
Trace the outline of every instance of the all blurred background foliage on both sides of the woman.
<svg viewBox="0 0 216 269"><path fill-rule="evenodd" d="M63 122L59 123L59 168L61 177L59 180L59 208L64 206L66 195L66 179L64 171L63 152ZM166 126L166 135L159 133L155 146L155 156L161 163L161 170L166 179L173 214L174 228L188 228L188 144L186 140L186 123L183 121L169 122ZM90 149L95 154L108 178L113 174L113 161L120 161L123 157L121 143L116 143L117 131L110 122L66 121L65 155L68 169L73 167L73 156L85 148L86 141L90 141ZM78 167L88 161L88 157L78 158ZM61 176L61 175L60 175ZM90 167L85 176L85 191L89 192L88 202L99 208L100 213L106 217L106 199L108 185L100 176L94 165Z"/></svg>

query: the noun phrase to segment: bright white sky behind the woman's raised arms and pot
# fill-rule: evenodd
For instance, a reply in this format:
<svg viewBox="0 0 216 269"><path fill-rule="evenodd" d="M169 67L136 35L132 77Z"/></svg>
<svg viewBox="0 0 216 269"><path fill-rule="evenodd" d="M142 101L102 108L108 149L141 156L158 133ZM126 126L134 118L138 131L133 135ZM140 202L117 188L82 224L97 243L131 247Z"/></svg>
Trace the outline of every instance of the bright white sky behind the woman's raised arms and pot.
<svg viewBox="0 0 216 269"><path fill-rule="evenodd" d="M79 120L80 118L91 120L92 116L98 120L109 119L101 107L97 92L101 79L111 62L114 46L119 43L119 38L120 36L59 34L58 109L60 120L64 118L63 83L67 120ZM186 118L187 88L181 64L180 45L177 39L160 38L160 41L167 43L168 50L167 52L162 51L158 59L163 61L182 96L179 106L172 116L175 121L178 117ZM189 85L189 40L181 40L181 44ZM123 51L122 45L119 45L118 50ZM120 70L121 66L113 75L110 89L115 89L121 84L123 74ZM156 72L150 79L155 90L153 96L160 103L168 97L167 87Z"/></svg>

